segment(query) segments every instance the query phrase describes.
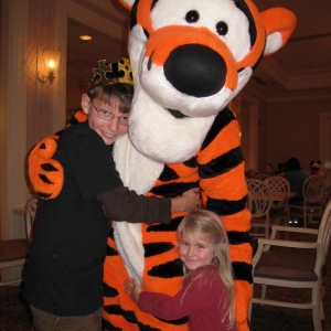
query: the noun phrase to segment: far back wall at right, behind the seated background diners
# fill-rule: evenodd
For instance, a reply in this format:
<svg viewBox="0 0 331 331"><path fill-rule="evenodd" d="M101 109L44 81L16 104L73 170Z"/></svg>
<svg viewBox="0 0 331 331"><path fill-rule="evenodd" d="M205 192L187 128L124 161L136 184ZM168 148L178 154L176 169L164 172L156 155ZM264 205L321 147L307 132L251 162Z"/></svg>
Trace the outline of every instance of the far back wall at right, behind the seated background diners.
<svg viewBox="0 0 331 331"><path fill-rule="evenodd" d="M311 160L324 163L327 160L321 158L319 146L319 114L329 109L331 115L330 102L331 98L268 104L263 110L265 119L260 120L260 138L267 146L259 153L259 164L271 162L276 167L291 157L297 157L306 170L309 170Z"/></svg>

